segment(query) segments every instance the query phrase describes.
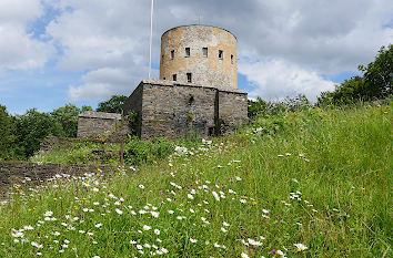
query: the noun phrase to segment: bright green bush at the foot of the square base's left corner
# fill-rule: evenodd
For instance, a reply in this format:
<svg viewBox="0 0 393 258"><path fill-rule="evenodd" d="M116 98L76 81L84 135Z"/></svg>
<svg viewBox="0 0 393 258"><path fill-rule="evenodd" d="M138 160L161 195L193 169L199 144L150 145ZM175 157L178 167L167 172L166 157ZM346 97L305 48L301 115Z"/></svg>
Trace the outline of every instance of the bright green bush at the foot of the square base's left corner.
<svg viewBox="0 0 393 258"><path fill-rule="evenodd" d="M124 144L124 159L127 164L153 163L171 155L174 144L168 138L154 138L141 141L139 137L130 137Z"/></svg>

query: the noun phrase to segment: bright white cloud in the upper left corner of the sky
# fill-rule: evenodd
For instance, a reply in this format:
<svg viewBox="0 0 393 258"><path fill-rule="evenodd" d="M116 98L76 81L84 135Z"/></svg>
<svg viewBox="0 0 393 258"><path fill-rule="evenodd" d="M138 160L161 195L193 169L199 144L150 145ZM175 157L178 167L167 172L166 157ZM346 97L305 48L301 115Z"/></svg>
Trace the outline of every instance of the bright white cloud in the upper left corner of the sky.
<svg viewBox="0 0 393 258"><path fill-rule="evenodd" d="M48 61L52 45L27 33L42 13L40 0L0 1L0 72L42 68Z"/></svg>

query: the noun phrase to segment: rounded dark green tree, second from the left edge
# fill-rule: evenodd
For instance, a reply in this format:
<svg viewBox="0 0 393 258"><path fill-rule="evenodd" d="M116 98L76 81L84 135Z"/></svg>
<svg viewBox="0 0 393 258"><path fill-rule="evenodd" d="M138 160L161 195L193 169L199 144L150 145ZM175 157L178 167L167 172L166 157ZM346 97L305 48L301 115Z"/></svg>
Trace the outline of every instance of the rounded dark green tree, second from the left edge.
<svg viewBox="0 0 393 258"><path fill-rule="evenodd" d="M24 115L17 116L14 134L24 156L29 157L40 148L42 140L48 135L62 136L64 133L61 124L50 114L31 109Z"/></svg>

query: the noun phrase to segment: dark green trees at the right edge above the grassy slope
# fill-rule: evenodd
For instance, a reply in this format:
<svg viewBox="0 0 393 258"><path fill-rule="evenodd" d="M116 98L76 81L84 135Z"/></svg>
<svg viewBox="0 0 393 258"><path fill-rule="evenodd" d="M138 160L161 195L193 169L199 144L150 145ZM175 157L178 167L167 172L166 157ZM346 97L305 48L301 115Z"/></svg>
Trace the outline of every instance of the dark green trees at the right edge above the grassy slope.
<svg viewBox="0 0 393 258"><path fill-rule="evenodd" d="M374 62L359 65L363 76L353 76L335 86L333 92L322 92L319 105L352 104L359 101L385 99L392 95L393 45L382 47Z"/></svg>

